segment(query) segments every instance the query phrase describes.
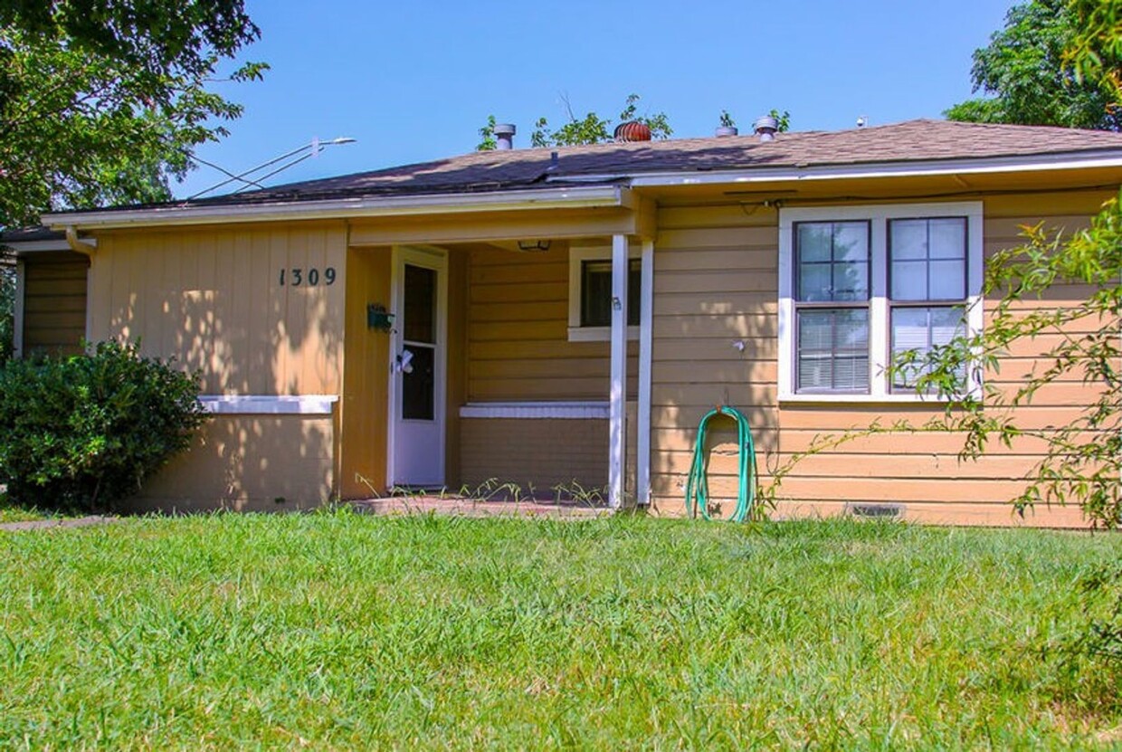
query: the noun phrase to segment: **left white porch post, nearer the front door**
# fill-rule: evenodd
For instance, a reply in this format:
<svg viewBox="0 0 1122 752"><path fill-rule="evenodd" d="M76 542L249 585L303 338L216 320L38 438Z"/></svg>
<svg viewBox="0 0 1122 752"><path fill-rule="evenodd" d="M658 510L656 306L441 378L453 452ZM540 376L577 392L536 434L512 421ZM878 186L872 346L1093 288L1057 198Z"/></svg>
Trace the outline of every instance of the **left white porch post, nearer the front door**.
<svg viewBox="0 0 1122 752"><path fill-rule="evenodd" d="M611 236L611 386L608 395L608 506L624 499L627 425L627 236Z"/></svg>

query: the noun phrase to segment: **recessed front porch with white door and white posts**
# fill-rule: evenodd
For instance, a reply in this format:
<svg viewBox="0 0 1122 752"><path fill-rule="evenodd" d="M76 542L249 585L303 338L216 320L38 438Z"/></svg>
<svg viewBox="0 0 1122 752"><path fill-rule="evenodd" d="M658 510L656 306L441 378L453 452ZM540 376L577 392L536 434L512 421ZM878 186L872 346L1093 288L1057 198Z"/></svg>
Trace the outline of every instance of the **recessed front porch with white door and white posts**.
<svg viewBox="0 0 1122 752"><path fill-rule="evenodd" d="M340 496L649 503L652 226L632 207L356 223Z"/></svg>

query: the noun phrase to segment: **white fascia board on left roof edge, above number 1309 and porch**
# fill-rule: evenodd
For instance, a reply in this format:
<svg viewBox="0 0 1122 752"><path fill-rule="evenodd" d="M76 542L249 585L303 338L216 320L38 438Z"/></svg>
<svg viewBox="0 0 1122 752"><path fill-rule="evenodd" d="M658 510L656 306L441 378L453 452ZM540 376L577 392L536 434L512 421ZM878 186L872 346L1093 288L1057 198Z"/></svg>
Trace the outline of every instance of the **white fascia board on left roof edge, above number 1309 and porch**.
<svg viewBox="0 0 1122 752"><path fill-rule="evenodd" d="M145 226L265 222L295 219L358 217L416 217L527 209L586 209L626 207L627 189L619 185L579 185L557 189L495 191L494 193L439 193L411 196L366 196L328 201L292 201L241 205L169 205L118 211L45 214L50 228L121 229Z"/></svg>

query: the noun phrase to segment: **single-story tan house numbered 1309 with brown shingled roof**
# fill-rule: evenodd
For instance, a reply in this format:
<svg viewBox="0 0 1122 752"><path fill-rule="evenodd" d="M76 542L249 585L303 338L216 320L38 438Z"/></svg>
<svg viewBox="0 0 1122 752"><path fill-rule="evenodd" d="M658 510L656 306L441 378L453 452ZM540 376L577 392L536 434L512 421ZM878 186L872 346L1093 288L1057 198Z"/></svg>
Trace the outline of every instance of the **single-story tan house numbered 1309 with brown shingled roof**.
<svg viewBox="0 0 1122 752"><path fill-rule="evenodd" d="M891 354L985 325L984 259L1022 226L1085 227L1120 183L1120 134L914 120L500 148L58 212L4 241L21 352L139 339L201 372L213 420L139 508L490 482L681 514L715 405L747 415L765 484L816 435L941 411L890 380ZM1052 343L985 378L1015 384ZM1093 389L1049 387L1023 420L1061 424ZM714 438L718 497L736 493L729 437ZM1040 446L959 449L856 439L803 459L779 511L1082 524L1072 507L1012 514Z"/></svg>

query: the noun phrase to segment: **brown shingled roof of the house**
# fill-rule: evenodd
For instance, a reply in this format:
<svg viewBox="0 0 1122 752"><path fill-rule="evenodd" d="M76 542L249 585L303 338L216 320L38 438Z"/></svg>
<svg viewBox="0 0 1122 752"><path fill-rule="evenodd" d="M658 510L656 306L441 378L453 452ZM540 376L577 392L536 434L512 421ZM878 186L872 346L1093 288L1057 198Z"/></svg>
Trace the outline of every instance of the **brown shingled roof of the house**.
<svg viewBox="0 0 1122 752"><path fill-rule="evenodd" d="M252 204L360 195L407 195L532 189L587 175L626 180L652 172L976 159L1119 150L1122 134L1036 126L909 120L839 131L687 138L508 152L473 152L422 164L289 183L201 199L192 204ZM551 168L551 152L558 165ZM182 205L182 204L181 204Z"/></svg>

